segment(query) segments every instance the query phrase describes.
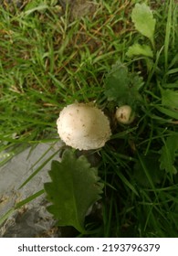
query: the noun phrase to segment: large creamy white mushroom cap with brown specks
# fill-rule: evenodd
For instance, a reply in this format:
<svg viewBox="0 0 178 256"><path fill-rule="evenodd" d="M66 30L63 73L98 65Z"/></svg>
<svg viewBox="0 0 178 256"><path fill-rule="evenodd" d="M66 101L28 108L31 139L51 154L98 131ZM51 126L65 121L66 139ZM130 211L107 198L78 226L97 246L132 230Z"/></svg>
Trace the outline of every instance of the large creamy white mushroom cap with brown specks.
<svg viewBox="0 0 178 256"><path fill-rule="evenodd" d="M84 103L65 107L57 125L61 140L79 150L100 148L111 135L108 117L98 108Z"/></svg>

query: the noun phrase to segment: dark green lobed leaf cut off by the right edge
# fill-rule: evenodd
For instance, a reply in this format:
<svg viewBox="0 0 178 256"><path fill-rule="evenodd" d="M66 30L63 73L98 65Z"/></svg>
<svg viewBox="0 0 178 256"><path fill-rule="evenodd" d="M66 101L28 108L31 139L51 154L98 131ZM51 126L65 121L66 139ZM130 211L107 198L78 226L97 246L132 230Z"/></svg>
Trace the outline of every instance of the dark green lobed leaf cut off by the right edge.
<svg viewBox="0 0 178 256"><path fill-rule="evenodd" d="M170 173L171 176L177 173L177 169L174 165L175 156L178 151L178 134L173 134L167 138L162 146L160 157L160 168Z"/></svg>

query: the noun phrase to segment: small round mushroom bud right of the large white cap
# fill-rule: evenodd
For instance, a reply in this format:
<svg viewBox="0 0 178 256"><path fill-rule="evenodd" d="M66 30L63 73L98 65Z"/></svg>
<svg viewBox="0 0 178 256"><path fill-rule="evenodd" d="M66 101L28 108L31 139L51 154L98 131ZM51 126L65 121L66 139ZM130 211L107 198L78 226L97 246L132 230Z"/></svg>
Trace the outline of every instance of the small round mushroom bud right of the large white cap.
<svg viewBox="0 0 178 256"><path fill-rule="evenodd" d="M116 110L115 116L118 123L130 124L135 118L135 113L129 105L123 105Z"/></svg>

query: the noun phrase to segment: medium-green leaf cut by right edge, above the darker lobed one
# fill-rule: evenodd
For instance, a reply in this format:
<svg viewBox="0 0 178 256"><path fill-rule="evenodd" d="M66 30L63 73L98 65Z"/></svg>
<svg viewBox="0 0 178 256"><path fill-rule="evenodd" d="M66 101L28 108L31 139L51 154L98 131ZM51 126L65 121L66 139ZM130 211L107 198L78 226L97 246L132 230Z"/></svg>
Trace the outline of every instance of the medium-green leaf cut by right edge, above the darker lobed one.
<svg viewBox="0 0 178 256"><path fill-rule="evenodd" d="M161 90L162 92L162 105L173 109L178 109L178 91Z"/></svg>

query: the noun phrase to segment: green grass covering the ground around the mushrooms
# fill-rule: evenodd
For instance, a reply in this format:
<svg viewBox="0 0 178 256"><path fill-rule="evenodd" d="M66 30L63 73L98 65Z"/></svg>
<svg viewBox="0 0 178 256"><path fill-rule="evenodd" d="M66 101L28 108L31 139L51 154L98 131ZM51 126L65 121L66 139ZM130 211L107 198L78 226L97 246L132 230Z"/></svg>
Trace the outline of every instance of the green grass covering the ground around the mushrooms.
<svg viewBox="0 0 178 256"><path fill-rule="evenodd" d="M178 164L176 145L171 146L173 136L177 139L177 109L162 104L160 89L178 87L177 5L148 1L157 19L155 59L148 69L144 59L126 55L143 40L131 22L131 10L141 1L94 1L95 12L76 19L68 8L61 16L50 1L31 2L23 11L0 6L2 165L26 146L57 142L58 113L69 103L95 101L113 112L104 79L120 59L131 72L141 72L141 106L136 121L115 127L99 151L102 214L86 221L96 237L177 237L178 176L171 173Z"/></svg>

